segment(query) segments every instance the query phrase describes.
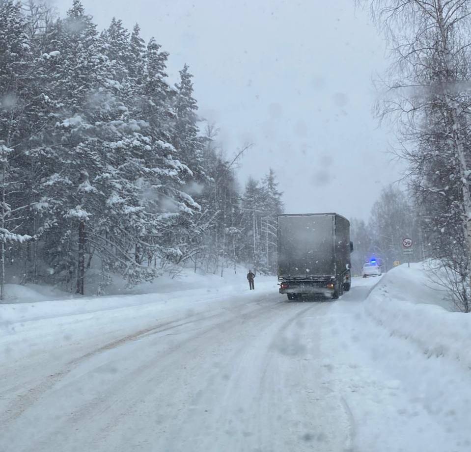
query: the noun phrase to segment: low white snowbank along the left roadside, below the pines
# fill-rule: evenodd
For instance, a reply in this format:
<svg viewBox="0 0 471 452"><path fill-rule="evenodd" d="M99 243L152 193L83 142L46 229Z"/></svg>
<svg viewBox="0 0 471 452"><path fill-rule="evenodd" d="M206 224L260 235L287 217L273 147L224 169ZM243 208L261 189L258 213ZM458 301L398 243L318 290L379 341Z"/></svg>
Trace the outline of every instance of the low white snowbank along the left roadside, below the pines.
<svg viewBox="0 0 471 452"><path fill-rule="evenodd" d="M216 275L201 275L184 271L170 278L161 277L153 283L143 283L133 289L125 289L125 282L115 286L113 295L80 296L59 291L50 286L29 284L5 285L5 302L0 304L1 327L31 320L77 316L100 311L149 306L152 311L193 307L229 296L249 292L245 273L227 272L221 278ZM255 279L256 290L248 293L269 291L277 293L276 278L259 275ZM152 306L150 306L152 305ZM134 311L133 311L134 312Z"/></svg>

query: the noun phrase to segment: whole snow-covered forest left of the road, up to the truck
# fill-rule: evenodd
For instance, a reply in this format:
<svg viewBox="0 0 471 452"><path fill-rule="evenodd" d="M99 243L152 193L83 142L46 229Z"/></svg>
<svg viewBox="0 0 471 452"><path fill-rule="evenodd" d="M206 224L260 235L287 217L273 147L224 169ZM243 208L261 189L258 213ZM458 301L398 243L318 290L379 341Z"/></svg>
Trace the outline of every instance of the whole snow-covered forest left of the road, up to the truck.
<svg viewBox="0 0 471 452"><path fill-rule="evenodd" d="M80 0L0 0L0 244L3 283L84 293L182 266L276 269L275 173L237 182L193 76L118 19L99 32ZM18 275L20 275L18 277ZM15 279L16 278L16 279Z"/></svg>

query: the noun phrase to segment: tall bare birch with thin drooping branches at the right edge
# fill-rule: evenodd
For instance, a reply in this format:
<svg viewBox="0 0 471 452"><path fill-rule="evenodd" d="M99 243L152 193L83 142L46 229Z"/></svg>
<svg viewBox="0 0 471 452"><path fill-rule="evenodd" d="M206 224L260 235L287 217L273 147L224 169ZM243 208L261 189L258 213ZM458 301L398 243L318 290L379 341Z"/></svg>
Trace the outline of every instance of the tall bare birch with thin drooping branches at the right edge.
<svg viewBox="0 0 471 452"><path fill-rule="evenodd" d="M381 117L399 126L402 157L409 160L412 183L420 196L449 197L445 207L459 211L459 240L465 253L470 294L470 0L371 0L372 16L391 45L392 64L384 81ZM432 146L433 143L433 146ZM430 178L445 160L448 181ZM452 190L458 188L458 190ZM453 193L452 193L453 191ZM443 216L443 215L442 215ZM453 216L452 212L444 217ZM453 229L450 225L450 229ZM447 225L439 232L450 233ZM456 239L456 238L454 238ZM437 256L443 263L453 260ZM460 257L461 260L461 257ZM463 266L461 265L463 268ZM450 284L450 289L455 290Z"/></svg>

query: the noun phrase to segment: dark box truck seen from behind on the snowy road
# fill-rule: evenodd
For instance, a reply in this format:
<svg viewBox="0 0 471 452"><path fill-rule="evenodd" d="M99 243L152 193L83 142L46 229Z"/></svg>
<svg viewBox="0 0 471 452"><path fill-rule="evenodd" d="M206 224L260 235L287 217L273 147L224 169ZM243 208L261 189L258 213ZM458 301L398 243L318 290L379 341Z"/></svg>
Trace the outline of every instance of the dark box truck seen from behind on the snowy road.
<svg viewBox="0 0 471 452"><path fill-rule="evenodd" d="M337 213L278 215L279 292L338 298L351 286L350 222Z"/></svg>

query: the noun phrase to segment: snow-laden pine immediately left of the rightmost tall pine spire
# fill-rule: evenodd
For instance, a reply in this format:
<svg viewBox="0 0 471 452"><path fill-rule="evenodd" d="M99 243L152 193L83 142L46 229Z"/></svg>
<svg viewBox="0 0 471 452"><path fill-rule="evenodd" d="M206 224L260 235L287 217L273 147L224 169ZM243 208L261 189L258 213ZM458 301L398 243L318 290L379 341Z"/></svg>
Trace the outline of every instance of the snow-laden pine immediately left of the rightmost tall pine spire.
<svg viewBox="0 0 471 452"><path fill-rule="evenodd" d="M142 131L142 139L147 142L142 155L146 173L140 184L143 206L154 218L148 240L164 265L188 259L191 241L200 235L195 224L200 206L185 191L194 173L171 144L172 90L166 82L167 57L168 53L161 52L152 38L147 45L146 73L135 110L146 121Z"/></svg>

